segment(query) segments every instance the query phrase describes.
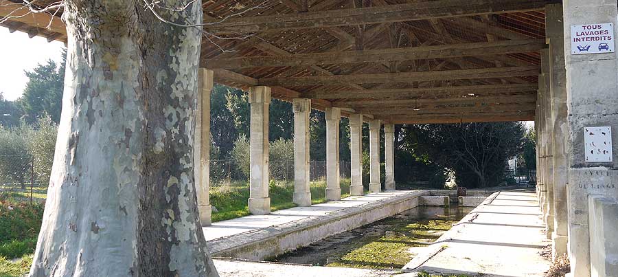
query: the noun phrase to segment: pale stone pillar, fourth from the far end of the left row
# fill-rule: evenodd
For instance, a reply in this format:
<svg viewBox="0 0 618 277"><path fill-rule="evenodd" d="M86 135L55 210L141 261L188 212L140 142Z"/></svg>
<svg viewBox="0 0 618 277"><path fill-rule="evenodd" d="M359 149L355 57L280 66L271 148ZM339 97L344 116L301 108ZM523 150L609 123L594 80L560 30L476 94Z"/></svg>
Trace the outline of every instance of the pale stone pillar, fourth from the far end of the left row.
<svg viewBox="0 0 618 277"><path fill-rule="evenodd" d="M326 108L326 200L341 199L339 184L339 121L341 109Z"/></svg>

